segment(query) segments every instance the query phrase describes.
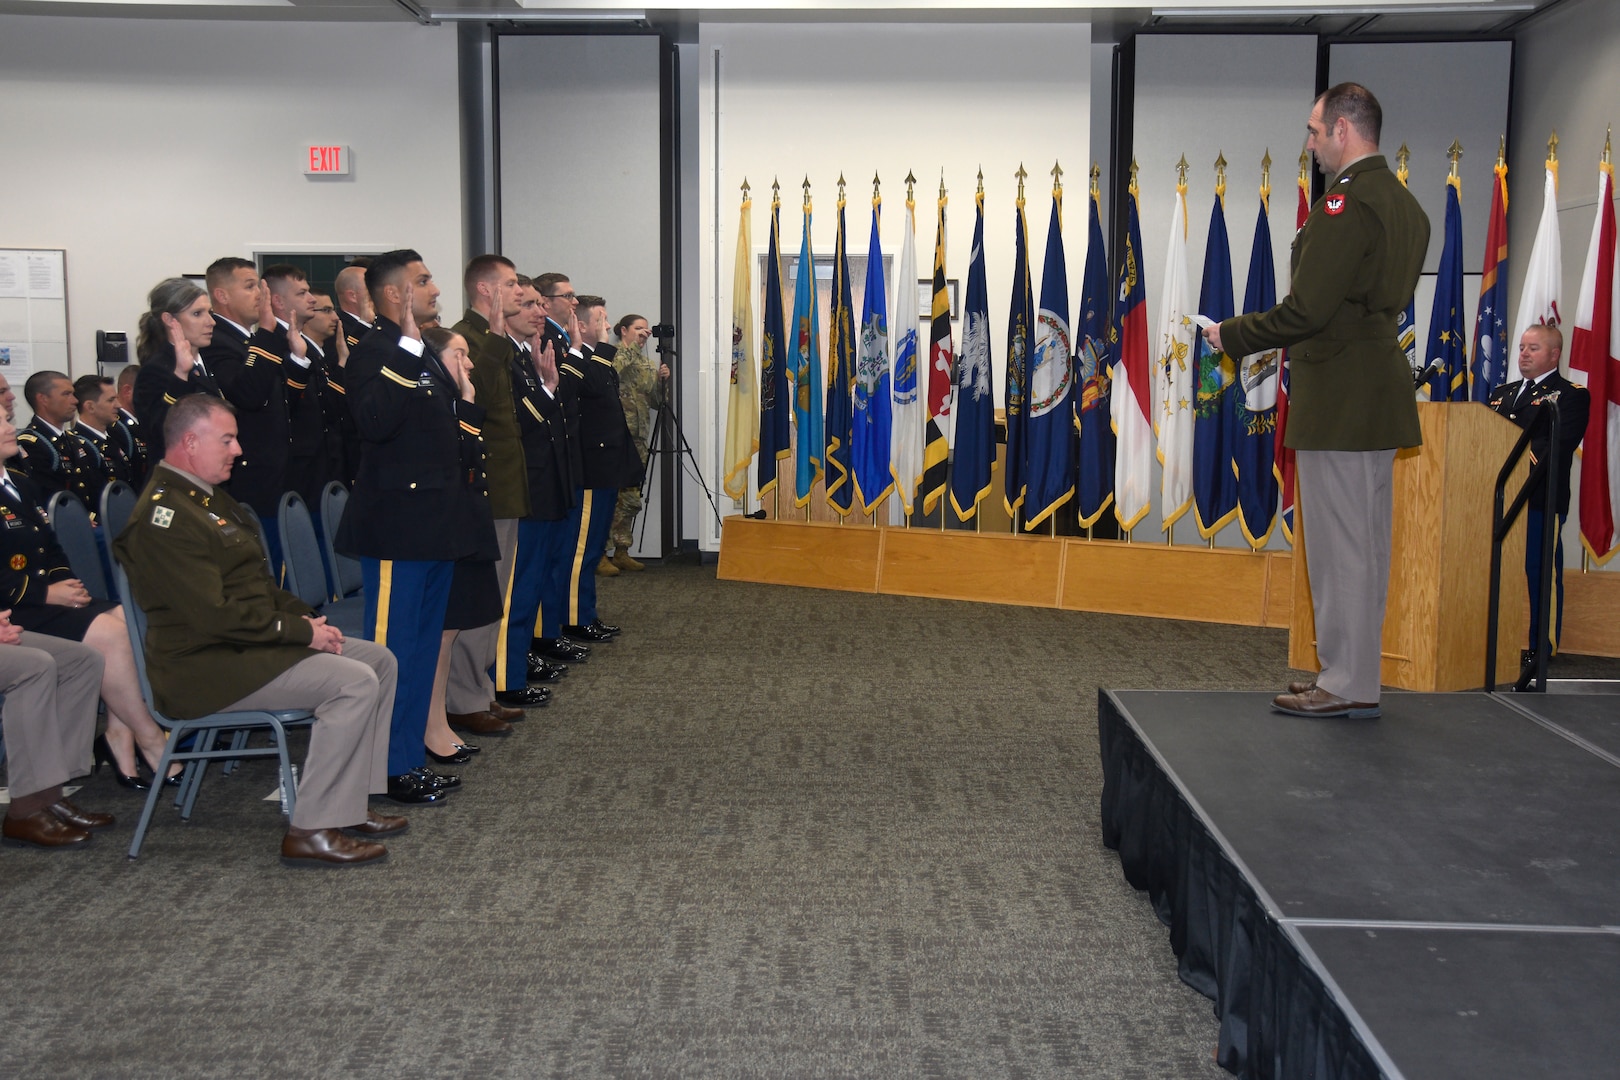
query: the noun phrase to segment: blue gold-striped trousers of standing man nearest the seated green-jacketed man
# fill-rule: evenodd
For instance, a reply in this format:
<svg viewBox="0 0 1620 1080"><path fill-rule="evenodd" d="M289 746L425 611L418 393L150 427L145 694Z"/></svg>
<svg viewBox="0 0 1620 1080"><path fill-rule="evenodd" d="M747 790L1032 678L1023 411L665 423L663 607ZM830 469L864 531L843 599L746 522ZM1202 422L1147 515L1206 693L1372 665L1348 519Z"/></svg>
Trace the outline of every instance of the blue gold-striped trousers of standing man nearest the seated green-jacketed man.
<svg viewBox="0 0 1620 1080"><path fill-rule="evenodd" d="M360 576L366 583L368 636L399 661L389 724L389 776L428 763L428 701L439 665L454 568L454 562L441 560L360 560Z"/></svg>

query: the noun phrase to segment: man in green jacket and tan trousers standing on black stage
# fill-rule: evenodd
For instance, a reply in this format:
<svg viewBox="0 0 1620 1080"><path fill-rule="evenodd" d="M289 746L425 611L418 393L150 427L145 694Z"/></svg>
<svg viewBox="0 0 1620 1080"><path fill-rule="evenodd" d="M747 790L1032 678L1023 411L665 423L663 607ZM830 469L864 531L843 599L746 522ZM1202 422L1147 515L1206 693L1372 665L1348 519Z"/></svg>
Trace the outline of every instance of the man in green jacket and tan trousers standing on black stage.
<svg viewBox="0 0 1620 1080"><path fill-rule="evenodd" d="M1204 330L1228 356L1288 347L1286 442L1322 664L1314 683L1272 699L1293 716L1379 716L1395 452L1422 442L1395 322L1422 270L1429 219L1379 154L1382 126L1366 86L1317 97L1306 147L1328 183L1294 236L1288 296Z"/></svg>

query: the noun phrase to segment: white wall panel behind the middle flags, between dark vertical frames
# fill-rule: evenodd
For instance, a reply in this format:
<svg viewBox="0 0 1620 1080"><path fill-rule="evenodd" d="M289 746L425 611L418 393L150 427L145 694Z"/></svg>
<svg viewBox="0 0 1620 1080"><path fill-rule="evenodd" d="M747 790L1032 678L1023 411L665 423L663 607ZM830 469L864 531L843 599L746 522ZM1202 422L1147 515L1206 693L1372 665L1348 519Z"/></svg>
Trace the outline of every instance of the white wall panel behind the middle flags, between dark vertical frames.
<svg viewBox="0 0 1620 1080"><path fill-rule="evenodd" d="M714 55L719 53L719 83ZM711 481L719 474L731 356L731 267L737 243L739 185L753 186L753 244L770 240L771 178L782 185L782 246L797 253L800 183L815 201L812 243L831 253L838 228L836 180L849 180L850 248L870 228L872 175L883 178L883 251L899 257L907 172L917 185L917 267L932 264L940 170L949 194L948 275L967 283L975 173L985 173L985 264L990 321L1006 327L1013 275L1013 173L1025 186L1032 274L1051 212L1055 160L1064 168L1064 254L1071 303L1079 303L1085 259L1085 173L1090 168L1090 26L1064 24L745 24L706 23L698 32L700 147L708 167L698 193L703 236L703 395L713 423L695 436ZM718 118L716 118L718 89ZM894 283L889 285L891 291ZM719 314L716 314L719 313ZM758 329L755 329L755 334ZM1004 372L1004 329L993 337L996 397ZM690 415L690 413L688 413ZM752 471L750 471L750 502ZM723 512L731 513L731 500ZM701 534L705 547L718 534Z"/></svg>

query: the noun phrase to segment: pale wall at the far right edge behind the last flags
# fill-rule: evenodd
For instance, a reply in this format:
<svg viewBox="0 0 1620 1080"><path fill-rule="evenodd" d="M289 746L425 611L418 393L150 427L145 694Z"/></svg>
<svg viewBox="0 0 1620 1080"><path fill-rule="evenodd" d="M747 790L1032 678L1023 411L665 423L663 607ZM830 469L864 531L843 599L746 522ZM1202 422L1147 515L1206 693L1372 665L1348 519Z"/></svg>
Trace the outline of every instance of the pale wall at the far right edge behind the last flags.
<svg viewBox="0 0 1620 1080"><path fill-rule="evenodd" d="M1609 125L1620 123L1620 5L1570 0L1524 28L1518 42L1513 142L1508 147L1508 266L1513 317L1524 262L1542 209L1547 136L1558 133L1558 235L1563 253L1565 343L1586 270L1586 248L1597 215L1597 162ZM1565 355L1568 374L1568 355ZM1576 382L1584 377L1576 372ZM1580 492L1581 461L1570 478ZM1581 565L1580 497L1570 500L1563 529L1565 565ZM1620 559L1607 570L1620 570Z"/></svg>

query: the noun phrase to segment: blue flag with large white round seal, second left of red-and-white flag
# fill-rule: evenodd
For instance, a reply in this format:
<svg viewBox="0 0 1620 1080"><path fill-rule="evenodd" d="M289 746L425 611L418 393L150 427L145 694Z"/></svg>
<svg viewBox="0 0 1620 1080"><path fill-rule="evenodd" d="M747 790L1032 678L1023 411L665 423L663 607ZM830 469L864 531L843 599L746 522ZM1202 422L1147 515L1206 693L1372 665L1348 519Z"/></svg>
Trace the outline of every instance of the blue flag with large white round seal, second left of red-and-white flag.
<svg viewBox="0 0 1620 1080"><path fill-rule="evenodd" d="M1074 497L1074 347L1069 342L1069 270L1063 257L1061 188L1051 191L1038 319L1025 395L1025 529L1034 529Z"/></svg>

